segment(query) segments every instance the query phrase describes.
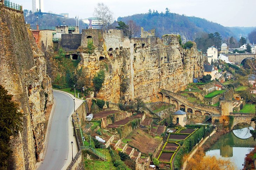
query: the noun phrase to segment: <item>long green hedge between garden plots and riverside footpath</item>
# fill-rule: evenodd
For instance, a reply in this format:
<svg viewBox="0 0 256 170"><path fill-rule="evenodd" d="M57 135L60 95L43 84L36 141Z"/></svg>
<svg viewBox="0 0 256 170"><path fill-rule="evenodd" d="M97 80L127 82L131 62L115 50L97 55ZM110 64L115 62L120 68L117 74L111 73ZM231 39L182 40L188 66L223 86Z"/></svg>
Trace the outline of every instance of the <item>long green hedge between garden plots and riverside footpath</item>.
<svg viewBox="0 0 256 170"><path fill-rule="evenodd" d="M187 140L185 140L180 147L180 150L176 153L174 160L175 169L180 169L182 166L182 159L185 154L188 154L194 146L206 135L206 128L201 127L195 131Z"/></svg>

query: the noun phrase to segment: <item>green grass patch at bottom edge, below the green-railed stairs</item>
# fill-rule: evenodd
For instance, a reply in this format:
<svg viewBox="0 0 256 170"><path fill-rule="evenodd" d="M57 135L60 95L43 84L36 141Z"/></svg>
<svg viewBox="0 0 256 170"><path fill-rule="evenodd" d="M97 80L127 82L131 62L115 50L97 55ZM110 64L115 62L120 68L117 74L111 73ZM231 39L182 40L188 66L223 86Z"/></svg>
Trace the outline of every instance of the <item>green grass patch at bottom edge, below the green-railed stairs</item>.
<svg viewBox="0 0 256 170"><path fill-rule="evenodd" d="M116 167L112 163L111 155L109 154L108 149L96 149L100 151L102 154L106 155L107 161L95 161L95 160L89 160L85 159L85 169L88 170L105 170L105 169L112 169L116 170Z"/></svg>

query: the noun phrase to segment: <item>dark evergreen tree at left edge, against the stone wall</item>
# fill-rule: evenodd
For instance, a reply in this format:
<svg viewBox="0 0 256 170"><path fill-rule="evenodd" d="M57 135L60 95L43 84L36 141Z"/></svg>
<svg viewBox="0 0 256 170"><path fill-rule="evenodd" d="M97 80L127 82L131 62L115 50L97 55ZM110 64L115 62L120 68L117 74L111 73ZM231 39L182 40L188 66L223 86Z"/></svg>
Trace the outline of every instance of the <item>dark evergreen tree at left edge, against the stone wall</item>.
<svg viewBox="0 0 256 170"><path fill-rule="evenodd" d="M22 129L23 114L18 111L18 104L12 101L12 95L0 85L0 169L7 168L11 156L10 137Z"/></svg>

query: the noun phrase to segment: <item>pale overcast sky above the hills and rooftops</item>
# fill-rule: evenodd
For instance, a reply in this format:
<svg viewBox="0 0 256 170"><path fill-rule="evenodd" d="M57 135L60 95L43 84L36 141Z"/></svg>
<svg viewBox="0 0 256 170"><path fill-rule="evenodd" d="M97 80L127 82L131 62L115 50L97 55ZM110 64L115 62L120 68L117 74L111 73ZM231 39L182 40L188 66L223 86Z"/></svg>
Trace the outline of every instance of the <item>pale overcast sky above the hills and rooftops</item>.
<svg viewBox="0 0 256 170"><path fill-rule="evenodd" d="M32 0L10 0L32 9ZM205 18L223 26L255 27L256 0L44 0L45 12L69 13L69 18L93 16L94 7L103 2L119 16L147 13L155 9L159 13L169 8L170 12Z"/></svg>

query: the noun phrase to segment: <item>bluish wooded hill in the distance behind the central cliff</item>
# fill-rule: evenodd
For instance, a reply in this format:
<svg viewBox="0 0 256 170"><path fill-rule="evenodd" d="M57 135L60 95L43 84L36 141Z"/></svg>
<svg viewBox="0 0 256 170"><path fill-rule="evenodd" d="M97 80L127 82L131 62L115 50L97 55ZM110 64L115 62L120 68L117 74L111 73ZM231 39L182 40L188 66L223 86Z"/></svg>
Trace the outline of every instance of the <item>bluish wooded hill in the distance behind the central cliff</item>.
<svg viewBox="0 0 256 170"><path fill-rule="evenodd" d="M239 39L240 34L247 36L256 27L224 27L218 23L210 22L206 19L195 16L185 16L176 13L169 14L135 14L131 16L119 17L118 21L127 22L134 20L137 25L144 30L156 29L157 36L164 34L180 34L183 39L194 40L203 32L215 33L219 32L222 39L234 36ZM139 36L139 35L137 35ZM245 36L245 37L246 37ZM185 41L186 41L185 40Z"/></svg>

